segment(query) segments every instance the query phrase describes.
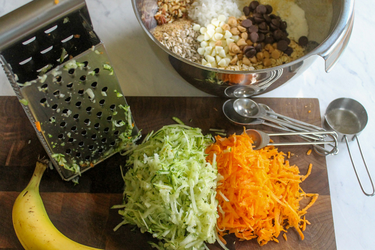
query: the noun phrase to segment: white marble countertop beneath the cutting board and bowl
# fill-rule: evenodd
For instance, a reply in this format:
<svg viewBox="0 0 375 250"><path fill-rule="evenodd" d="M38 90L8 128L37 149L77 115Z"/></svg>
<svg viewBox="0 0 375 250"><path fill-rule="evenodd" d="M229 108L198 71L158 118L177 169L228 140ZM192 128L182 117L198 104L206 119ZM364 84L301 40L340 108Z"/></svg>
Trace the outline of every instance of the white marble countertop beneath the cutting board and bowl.
<svg viewBox="0 0 375 250"><path fill-rule="evenodd" d="M0 0L0 16L29 1ZM106 45L126 95L208 96L184 81L165 60L156 57L145 41L145 34L129 0L87 0L87 5L95 31ZM321 114L336 98L358 100L368 112L368 124L360 135L360 142L375 178L375 146L371 136L375 129L373 7L372 0L356 1L356 17L349 45L332 72L326 73L324 60L318 58L301 76L261 96L318 98ZM2 70L0 95L14 95ZM365 183L365 190L370 192L371 186L356 145L356 142L351 142L360 177ZM375 249L375 196L367 197L362 193L345 143L339 145L339 150L338 155L327 157L337 248Z"/></svg>

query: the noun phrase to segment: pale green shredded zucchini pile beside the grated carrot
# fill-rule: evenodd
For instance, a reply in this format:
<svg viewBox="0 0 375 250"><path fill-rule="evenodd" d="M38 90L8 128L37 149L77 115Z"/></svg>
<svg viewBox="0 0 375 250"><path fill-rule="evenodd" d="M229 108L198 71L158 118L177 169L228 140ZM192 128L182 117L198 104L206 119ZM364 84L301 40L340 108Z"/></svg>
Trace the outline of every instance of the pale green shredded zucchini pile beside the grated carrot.
<svg viewBox="0 0 375 250"><path fill-rule="evenodd" d="M216 241L216 163L206 162L212 143L198 128L164 126L138 145L127 161L124 224L158 238L157 249L207 249Z"/></svg>

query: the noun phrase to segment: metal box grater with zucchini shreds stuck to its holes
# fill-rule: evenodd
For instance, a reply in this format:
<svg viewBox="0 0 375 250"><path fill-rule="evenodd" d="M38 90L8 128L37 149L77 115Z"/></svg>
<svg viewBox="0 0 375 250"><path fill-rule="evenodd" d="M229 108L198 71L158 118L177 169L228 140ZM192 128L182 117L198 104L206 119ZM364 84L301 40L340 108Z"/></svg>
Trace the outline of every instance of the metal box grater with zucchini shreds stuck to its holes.
<svg viewBox="0 0 375 250"><path fill-rule="evenodd" d="M139 139L84 0L34 0L2 16L0 61L63 180Z"/></svg>

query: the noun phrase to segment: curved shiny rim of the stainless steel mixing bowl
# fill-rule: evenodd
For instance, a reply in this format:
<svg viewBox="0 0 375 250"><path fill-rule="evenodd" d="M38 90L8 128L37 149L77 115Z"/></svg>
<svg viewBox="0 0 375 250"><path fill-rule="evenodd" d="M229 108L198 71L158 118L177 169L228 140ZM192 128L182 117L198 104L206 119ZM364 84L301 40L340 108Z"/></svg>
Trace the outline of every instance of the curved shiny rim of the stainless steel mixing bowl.
<svg viewBox="0 0 375 250"><path fill-rule="evenodd" d="M290 67L294 64L300 63L303 60L305 60L308 57L311 57L312 55L321 55L325 52L330 52L332 51L331 45L333 45L339 38L341 37L342 32L347 28L349 25L350 19L354 15L354 0L341 0L342 6L341 6L341 11L340 15L338 18L338 21L331 31L331 33L326 37L326 39L323 40L316 48L314 48L312 51L308 52L307 54L303 55L302 57L291 61L289 63L285 63L276 67L271 67L268 69L257 69L257 70L227 70L227 69L217 69L217 68L211 68L207 66L203 66L202 64L195 63L192 61L187 60L186 58L181 57L180 55L175 54L173 51L167 49L161 42L159 42L153 34L148 30L148 28L144 25L144 22L142 21L142 17L140 15L140 12L138 11L138 7L136 6L135 1L136 0L131 0L132 1L132 6L133 6L133 11L134 14L145 31L145 33L148 35L148 37L156 43L160 48L162 48L165 52L167 52L169 55L172 57L177 58L180 61L183 61L184 63L190 64L191 66L195 66L204 70L212 71L212 72L217 72L217 73L226 73L226 74L254 74L254 73L265 73L265 72L270 72L273 70L279 70L279 69L284 69L286 67ZM333 50L334 51L334 50Z"/></svg>

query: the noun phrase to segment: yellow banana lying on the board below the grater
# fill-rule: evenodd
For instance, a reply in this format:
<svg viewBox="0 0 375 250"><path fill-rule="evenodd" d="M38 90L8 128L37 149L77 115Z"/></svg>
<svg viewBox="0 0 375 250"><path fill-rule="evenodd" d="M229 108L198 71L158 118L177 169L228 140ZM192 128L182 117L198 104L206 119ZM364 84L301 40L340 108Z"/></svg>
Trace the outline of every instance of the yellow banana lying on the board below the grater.
<svg viewBox="0 0 375 250"><path fill-rule="evenodd" d="M39 195L45 169L45 164L36 163L33 177L13 205L13 226L22 246L26 250L98 250L70 240L49 220Z"/></svg>

